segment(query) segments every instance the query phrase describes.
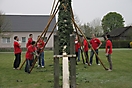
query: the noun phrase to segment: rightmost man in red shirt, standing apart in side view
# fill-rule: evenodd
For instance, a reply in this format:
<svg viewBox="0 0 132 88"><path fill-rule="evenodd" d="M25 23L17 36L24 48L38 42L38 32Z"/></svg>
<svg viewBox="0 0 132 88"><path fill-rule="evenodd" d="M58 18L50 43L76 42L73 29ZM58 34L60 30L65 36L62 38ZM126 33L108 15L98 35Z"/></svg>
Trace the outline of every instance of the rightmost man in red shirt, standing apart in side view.
<svg viewBox="0 0 132 88"><path fill-rule="evenodd" d="M111 54L112 54L112 42L109 40L109 35L106 35L104 37L104 39L106 40L106 45L105 45L105 55L108 59L108 62L109 62L109 70L108 71L112 71L112 61L111 61Z"/></svg>

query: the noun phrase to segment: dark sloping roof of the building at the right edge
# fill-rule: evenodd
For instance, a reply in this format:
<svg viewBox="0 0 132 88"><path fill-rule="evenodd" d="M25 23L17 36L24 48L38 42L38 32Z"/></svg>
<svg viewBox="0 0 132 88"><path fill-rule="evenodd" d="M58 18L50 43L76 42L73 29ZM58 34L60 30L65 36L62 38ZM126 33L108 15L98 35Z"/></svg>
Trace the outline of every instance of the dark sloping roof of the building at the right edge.
<svg viewBox="0 0 132 88"><path fill-rule="evenodd" d="M117 28L112 30L110 33L110 36L120 36L121 34L123 34L125 31L127 31L129 28L131 28L132 26L128 26L128 27L122 27L122 28Z"/></svg>

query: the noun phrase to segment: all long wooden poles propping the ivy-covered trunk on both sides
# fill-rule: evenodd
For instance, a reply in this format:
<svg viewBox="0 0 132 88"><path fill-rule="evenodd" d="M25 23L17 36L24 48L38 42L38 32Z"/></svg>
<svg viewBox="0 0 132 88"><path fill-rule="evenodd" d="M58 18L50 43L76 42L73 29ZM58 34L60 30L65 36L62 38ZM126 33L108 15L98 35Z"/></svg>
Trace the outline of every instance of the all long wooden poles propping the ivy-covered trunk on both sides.
<svg viewBox="0 0 132 88"><path fill-rule="evenodd" d="M44 28L43 32L41 33L40 37L37 39L37 42L40 40L40 38L41 38L42 36L44 36L44 37L46 36L46 33L47 33L48 28L49 28L49 26L50 26L50 23L52 22L53 18L55 17L55 15L56 15L57 12L58 12L58 8L57 8L57 7L58 7L58 4L59 4L59 1L57 2L57 5L55 6L55 9L54 9L54 11L53 11L53 8L54 8L54 5L55 5L55 0L54 0L53 6L52 6L52 10L51 10L51 13L50 13L49 21L48 21L46 27ZM56 9L57 9L57 10L56 10ZM79 36L79 34L78 34L78 31L79 31L79 32L81 33L81 35L87 40L86 36L84 35L84 33L81 31L81 29L78 27L78 25L76 24L76 22L75 22L75 20L74 20L74 15L73 15L72 9L71 9L71 13L72 13L71 20L72 20L73 25L74 25L74 27L75 27L75 29L76 29L77 36ZM53 27L53 29L52 29L52 32L51 32L51 34L49 35L49 37L48 37L48 39L47 39L47 41L46 41L46 43L45 43L45 46L46 46L46 44L48 43L48 41L49 41L51 35L53 34L53 32L54 32L54 30L55 30L55 28L56 28L57 25L58 25L58 22L54 25L54 27ZM77 30L78 30L78 31L77 31ZM79 37L78 37L78 38L79 38ZM37 42L36 42L36 43L37 43ZM80 42L80 45L83 46L83 44L82 44L81 41L80 41L80 38L79 38L79 42ZM88 40L87 40L87 42L88 42ZM91 49L94 51L95 55L97 56L98 60L100 61L101 65L104 67L104 69L105 69L105 70L108 70L108 68L106 68L106 67L104 66L103 62L101 61L101 59L99 58L99 56L97 55L97 53L95 52L95 50L93 49L93 47L91 46L91 44L90 44L89 42L88 42L88 44L90 45ZM42 50L44 50L45 46L43 47ZM81 55L82 55L83 63L85 63L85 62L84 62L84 57L83 57L83 49L81 49ZM85 58L88 60L88 57L86 57L86 55L85 55ZM34 59L34 62L33 62L33 64L32 64L32 67L31 67L31 69L30 69L30 72L33 70L33 68L34 68L34 66L35 66L35 64L36 64L36 62L37 62L37 60L38 60L38 56L35 56L35 59ZM23 67L23 65L25 64L25 62L26 62L26 59L23 61L22 65L20 66L20 68L19 68L20 70L21 70L21 68ZM88 65L90 66L90 63L89 63L89 62L88 62Z"/></svg>

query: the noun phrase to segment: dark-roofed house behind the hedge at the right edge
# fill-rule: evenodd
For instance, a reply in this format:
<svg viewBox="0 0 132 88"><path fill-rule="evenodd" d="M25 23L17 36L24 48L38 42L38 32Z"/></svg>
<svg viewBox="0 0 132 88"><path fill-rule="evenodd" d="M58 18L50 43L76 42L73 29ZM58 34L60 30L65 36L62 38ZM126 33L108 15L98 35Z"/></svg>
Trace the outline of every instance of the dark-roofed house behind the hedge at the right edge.
<svg viewBox="0 0 132 88"><path fill-rule="evenodd" d="M113 29L108 34L112 40L132 40L132 26Z"/></svg>

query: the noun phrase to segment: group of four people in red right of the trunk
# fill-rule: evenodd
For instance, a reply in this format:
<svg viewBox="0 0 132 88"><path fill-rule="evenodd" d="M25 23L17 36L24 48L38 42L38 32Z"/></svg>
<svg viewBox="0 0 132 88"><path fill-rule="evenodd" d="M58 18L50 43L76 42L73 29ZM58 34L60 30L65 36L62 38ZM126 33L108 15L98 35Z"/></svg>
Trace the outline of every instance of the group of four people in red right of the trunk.
<svg viewBox="0 0 132 88"><path fill-rule="evenodd" d="M82 40L82 42L81 42ZM109 69L108 71L112 71L112 60L111 60L111 54L112 54L112 41L110 40L109 35L104 36L104 40L106 40L106 45L105 45L105 55L108 59L109 62ZM88 50L89 50L89 45L91 46L91 52L90 52L90 61L89 61L89 56L88 56ZM78 36L75 38L75 53L76 53L76 63L80 61L80 50L84 51L84 55L86 58L85 64L92 65L93 64L93 56L96 54L96 64L100 65L99 63L99 58L98 58L98 53L99 53L99 48L102 45L102 42L95 37L94 34L92 34L92 39L88 41L82 37L82 39L79 39Z"/></svg>

